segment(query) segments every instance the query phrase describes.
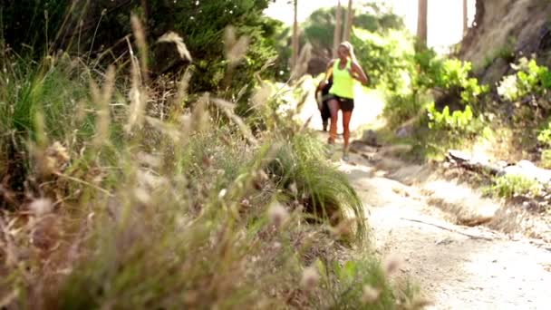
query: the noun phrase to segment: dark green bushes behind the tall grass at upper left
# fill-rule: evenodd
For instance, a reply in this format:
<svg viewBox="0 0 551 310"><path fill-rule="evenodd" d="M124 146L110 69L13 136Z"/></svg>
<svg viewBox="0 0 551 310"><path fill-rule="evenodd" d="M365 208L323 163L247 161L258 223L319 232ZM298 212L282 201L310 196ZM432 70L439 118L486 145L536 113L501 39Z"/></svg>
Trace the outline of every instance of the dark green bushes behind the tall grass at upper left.
<svg viewBox="0 0 551 310"><path fill-rule="evenodd" d="M167 56L161 53L162 49L158 50L157 40L162 34L172 31L183 38L194 59L197 74L193 75L189 84L190 92L225 92L225 97L237 98L237 93L245 89L241 99L243 104L247 104L255 74L266 78L278 77L280 72L284 76L286 74L286 59L266 68L268 63L275 62L276 50L282 50L285 46L282 24L262 15L269 2L36 0L34 5L29 5L28 2L8 1L0 14L4 21L3 39L16 52L26 56L27 50L30 50L37 59L48 49L63 49L84 54L86 60L95 66L124 63L128 59L124 37L132 34L133 13L140 16L143 23L151 51L147 61L152 73L178 73L186 64L177 53ZM143 4L146 7L142 7ZM44 19L44 11L48 12L48 19ZM28 12L28 15L21 12ZM225 59L228 43L224 44L224 34L228 25L236 28L237 36L247 36L249 43L245 58L232 69ZM49 35L43 34L46 29ZM138 48L134 46L134 49ZM166 65L167 62L169 65ZM227 75L232 76L231 83Z"/></svg>

